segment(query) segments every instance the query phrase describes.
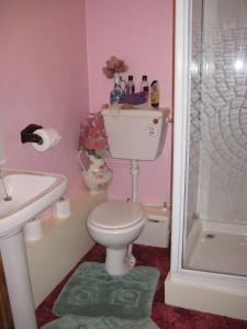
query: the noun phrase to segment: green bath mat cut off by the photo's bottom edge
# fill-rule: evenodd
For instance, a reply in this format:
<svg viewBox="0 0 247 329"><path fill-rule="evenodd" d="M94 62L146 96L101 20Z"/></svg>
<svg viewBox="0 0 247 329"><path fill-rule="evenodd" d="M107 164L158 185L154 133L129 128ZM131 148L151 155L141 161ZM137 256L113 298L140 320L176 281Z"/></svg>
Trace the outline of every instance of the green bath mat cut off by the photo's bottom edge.
<svg viewBox="0 0 247 329"><path fill-rule="evenodd" d="M113 317L78 317L65 316L52 321L42 329L158 329L157 325L150 319L124 320Z"/></svg>

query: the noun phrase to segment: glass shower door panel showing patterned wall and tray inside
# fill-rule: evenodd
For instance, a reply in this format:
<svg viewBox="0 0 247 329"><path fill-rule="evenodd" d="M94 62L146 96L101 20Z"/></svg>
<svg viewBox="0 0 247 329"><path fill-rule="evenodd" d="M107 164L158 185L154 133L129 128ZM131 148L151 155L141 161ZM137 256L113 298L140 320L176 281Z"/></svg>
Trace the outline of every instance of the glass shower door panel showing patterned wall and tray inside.
<svg viewBox="0 0 247 329"><path fill-rule="evenodd" d="M247 276L247 0L191 0L182 266Z"/></svg>

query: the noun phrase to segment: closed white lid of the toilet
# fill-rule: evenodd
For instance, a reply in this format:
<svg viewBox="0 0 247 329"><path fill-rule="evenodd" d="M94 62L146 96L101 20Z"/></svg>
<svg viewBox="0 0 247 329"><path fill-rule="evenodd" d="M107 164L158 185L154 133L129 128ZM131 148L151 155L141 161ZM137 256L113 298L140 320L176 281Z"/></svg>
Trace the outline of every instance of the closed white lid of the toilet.
<svg viewBox="0 0 247 329"><path fill-rule="evenodd" d="M111 201L96 207L88 219L102 228L125 228L138 223L144 216L138 204Z"/></svg>

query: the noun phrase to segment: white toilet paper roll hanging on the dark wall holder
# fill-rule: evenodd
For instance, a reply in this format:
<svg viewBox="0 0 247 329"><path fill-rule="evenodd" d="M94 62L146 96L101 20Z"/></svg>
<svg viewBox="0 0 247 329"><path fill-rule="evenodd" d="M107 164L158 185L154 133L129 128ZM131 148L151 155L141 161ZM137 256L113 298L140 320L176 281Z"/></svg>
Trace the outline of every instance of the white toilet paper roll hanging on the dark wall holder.
<svg viewBox="0 0 247 329"><path fill-rule="evenodd" d="M40 151L44 152L50 148L54 148L60 140L60 135L54 128L42 128L36 129L34 134L38 135L43 139L43 144L32 143L33 147Z"/></svg>

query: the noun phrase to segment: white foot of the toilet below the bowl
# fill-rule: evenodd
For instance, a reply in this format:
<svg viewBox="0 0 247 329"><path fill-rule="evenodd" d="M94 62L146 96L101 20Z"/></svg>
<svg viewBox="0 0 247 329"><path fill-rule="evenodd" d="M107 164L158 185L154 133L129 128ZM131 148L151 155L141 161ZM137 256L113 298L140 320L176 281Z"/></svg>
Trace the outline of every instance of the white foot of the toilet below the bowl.
<svg viewBox="0 0 247 329"><path fill-rule="evenodd" d="M110 275L124 275L135 263L135 257L128 254L128 246L121 249L106 248L105 270Z"/></svg>

